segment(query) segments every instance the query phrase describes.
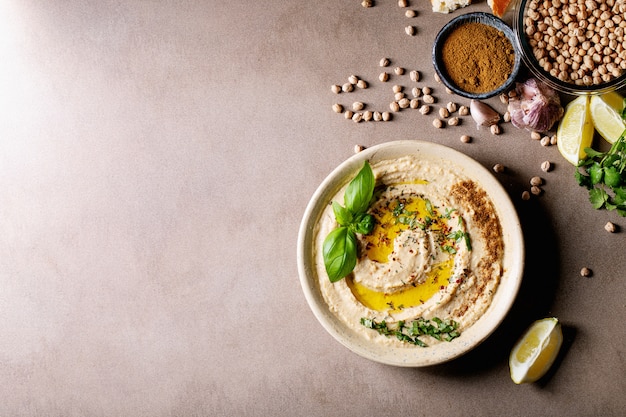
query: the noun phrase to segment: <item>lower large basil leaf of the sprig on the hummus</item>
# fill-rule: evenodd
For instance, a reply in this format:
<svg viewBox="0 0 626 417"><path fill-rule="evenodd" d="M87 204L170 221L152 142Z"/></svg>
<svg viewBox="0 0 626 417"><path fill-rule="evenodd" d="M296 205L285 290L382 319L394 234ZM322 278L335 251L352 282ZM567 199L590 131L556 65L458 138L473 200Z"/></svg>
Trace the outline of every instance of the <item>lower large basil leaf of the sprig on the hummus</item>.
<svg viewBox="0 0 626 417"><path fill-rule="evenodd" d="M338 227L326 236L322 245L324 267L330 282L337 282L356 266L356 235L347 227Z"/></svg>

